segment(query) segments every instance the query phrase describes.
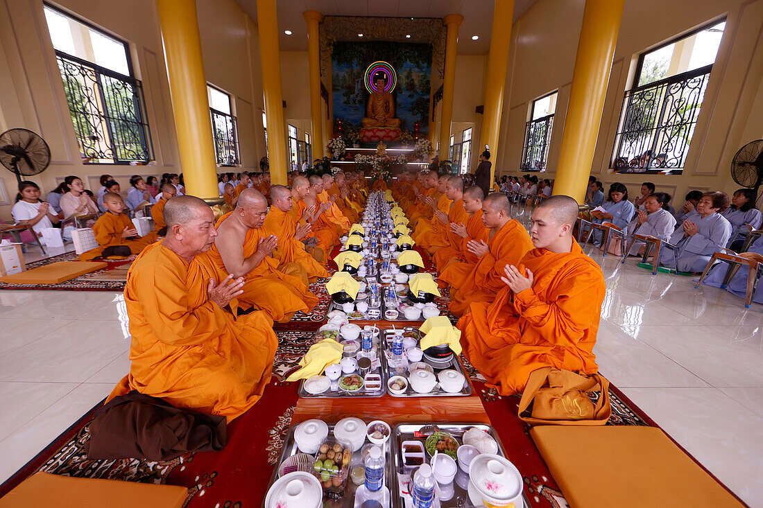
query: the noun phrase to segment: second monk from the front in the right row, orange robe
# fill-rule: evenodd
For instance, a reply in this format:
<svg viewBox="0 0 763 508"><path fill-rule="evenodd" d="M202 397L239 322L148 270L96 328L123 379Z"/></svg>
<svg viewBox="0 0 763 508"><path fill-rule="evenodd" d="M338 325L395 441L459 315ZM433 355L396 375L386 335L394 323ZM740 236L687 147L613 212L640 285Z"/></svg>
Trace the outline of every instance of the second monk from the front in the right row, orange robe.
<svg viewBox="0 0 763 508"><path fill-rule="evenodd" d="M472 240L466 245L468 252L479 261L465 277L453 278L448 270L439 275L451 291L450 311L461 317L475 301L493 301L503 288L501 275L504 266L517 265L522 256L533 248L527 230L509 214L509 198L504 194L491 194L482 202L482 223L490 230L488 243Z"/></svg>

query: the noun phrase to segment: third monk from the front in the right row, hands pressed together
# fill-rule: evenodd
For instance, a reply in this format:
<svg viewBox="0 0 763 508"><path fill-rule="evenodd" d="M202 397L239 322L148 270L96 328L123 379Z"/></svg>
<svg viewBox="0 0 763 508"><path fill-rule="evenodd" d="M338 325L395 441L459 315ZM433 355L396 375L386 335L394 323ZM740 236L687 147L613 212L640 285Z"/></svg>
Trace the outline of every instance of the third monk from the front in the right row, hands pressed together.
<svg viewBox="0 0 763 508"><path fill-rule="evenodd" d="M452 263L461 263L464 266L463 275L472 271L474 265L477 264L479 258L468 252L466 248L469 241L488 241L488 230L485 224L482 223L482 198L485 194L482 189L476 185L466 188L463 191L463 208L465 219L462 220L449 220L449 226L447 230L448 243L447 247L439 249L434 253L433 260L437 268L438 273L443 271ZM466 265L471 264L468 268Z"/></svg>

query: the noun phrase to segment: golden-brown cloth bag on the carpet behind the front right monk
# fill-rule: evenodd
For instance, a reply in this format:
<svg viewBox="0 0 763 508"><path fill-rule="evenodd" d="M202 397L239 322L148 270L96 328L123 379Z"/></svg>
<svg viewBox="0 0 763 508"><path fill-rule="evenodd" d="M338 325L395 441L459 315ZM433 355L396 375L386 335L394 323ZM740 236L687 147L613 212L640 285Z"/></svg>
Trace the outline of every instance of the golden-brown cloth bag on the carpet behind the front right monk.
<svg viewBox="0 0 763 508"><path fill-rule="evenodd" d="M522 392L518 415L527 423L542 425L604 425L610 419L610 382L599 374L544 367L533 371ZM594 406L590 391L601 391ZM533 403L530 416L522 413Z"/></svg>

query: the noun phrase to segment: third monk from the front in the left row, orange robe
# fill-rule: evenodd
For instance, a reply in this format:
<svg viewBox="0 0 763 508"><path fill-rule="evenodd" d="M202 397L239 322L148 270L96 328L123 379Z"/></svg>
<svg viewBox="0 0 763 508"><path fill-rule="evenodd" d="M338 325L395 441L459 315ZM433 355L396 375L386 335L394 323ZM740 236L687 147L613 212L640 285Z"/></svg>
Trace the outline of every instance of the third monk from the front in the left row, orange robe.
<svg viewBox="0 0 763 508"><path fill-rule="evenodd" d="M281 262L281 265L298 263L304 268L309 281L315 281L319 277L328 277L324 265L317 262L313 256L304 249L307 234L312 230L310 223L298 225L289 212L293 207L291 191L283 185L273 185L270 188L272 206L265 217L264 227L269 233L278 237L278 246L273 251L273 257ZM307 215L307 214L305 214ZM307 217L301 217L306 219Z"/></svg>

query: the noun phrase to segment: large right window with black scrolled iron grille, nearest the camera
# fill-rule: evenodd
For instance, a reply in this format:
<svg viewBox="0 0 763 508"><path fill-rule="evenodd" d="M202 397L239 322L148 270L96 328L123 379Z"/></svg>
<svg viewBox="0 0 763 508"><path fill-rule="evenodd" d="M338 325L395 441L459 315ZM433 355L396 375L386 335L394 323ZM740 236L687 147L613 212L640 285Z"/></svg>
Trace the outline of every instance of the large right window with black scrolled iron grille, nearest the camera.
<svg viewBox="0 0 763 508"><path fill-rule="evenodd" d="M725 27L714 21L639 56L612 153L616 172L681 174Z"/></svg>

